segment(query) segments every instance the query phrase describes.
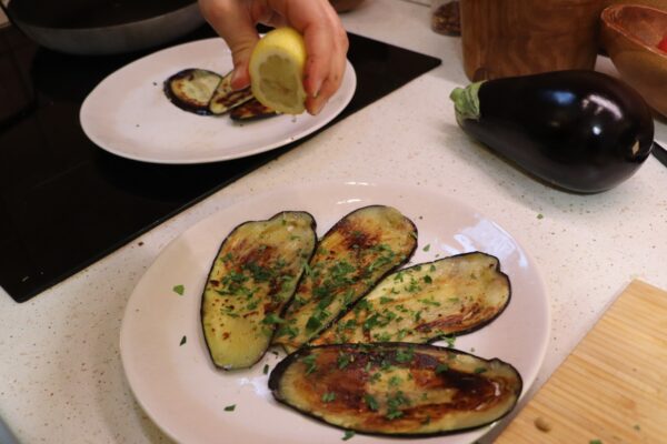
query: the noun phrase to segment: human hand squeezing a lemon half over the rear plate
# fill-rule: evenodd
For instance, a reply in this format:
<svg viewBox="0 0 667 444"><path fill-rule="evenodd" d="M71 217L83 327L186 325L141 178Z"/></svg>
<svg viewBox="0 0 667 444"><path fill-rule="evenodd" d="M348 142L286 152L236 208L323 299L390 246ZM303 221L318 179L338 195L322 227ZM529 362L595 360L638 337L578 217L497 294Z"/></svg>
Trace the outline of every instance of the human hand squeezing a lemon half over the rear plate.
<svg viewBox="0 0 667 444"><path fill-rule="evenodd" d="M306 110L317 114L340 87L348 39L329 0L199 0L199 8L231 49L232 88L250 84L248 63L259 40L255 26L289 26L303 36Z"/></svg>

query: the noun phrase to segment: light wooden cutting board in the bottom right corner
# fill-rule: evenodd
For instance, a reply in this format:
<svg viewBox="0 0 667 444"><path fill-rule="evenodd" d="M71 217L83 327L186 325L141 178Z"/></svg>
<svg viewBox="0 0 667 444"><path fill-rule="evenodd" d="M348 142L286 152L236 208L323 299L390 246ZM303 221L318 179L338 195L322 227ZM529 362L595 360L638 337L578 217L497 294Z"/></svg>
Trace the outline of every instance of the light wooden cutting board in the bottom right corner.
<svg viewBox="0 0 667 444"><path fill-rule="evenodd" d="M667 443L667 292L634 281L496 444Z"/></svg>

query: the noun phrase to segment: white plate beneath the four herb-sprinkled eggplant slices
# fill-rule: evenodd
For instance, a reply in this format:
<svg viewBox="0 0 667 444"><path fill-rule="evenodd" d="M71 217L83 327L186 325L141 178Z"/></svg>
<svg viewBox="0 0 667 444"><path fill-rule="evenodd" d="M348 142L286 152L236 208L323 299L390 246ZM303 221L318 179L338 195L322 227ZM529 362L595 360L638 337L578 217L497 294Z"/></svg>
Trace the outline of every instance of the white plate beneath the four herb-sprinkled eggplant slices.
<svg viewBox="0 0 667 444"><path fill-rule="evenodd" d="M360 206L387 204L409 216L419 230L412 262L474 250L496 255L511 282L502 314L484 329L460 336L456 347L514 364L528 390L541 365L549 334L549 304L534 261L496 223L440 192L391 184L319 183L285 188L236 204L199 222L171 242L138 283L127 305L120 352L135 396L148 415L181 443L340 443L341 430L281 406L267 389L265 364L223 372L210 362L199 323L200 295L220 242L239 223L267 219L282 210L305 210L322 234ZM425 245L430 245L428 252ZM185 285L182 296L172 291ZM186 336L187 342L179 345ZM225 411L236 404L233 412ZM487 428L442 436L438 444L471 443ZM354 443L386 438L356 435ZM429 438L410 443L434 443Z"/></svg>

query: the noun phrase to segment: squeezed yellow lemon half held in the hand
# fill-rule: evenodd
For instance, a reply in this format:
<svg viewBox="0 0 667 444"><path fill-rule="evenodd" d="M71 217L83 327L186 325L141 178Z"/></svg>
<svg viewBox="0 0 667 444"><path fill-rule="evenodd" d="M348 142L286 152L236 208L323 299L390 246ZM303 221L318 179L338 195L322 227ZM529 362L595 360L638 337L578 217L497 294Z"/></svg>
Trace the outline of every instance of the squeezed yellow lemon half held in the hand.
<svg viewBox="0 0 667 444"><path fill-rule="evenodd" d="M250 88L265 107L300 114L306 107L303 37L292 28L277 28L259 40L250 56Z"/></svg>

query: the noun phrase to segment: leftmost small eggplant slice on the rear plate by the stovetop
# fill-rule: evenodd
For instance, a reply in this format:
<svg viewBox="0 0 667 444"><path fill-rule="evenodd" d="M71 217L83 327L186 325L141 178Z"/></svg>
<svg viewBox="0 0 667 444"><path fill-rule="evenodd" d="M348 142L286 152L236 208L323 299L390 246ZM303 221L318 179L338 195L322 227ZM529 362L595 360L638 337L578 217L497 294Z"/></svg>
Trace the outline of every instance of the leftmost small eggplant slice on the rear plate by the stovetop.
<svg viewBox="0 0 667 444"><path fill-rule="evenodd" d="M181 110L207 115L209 101L221 80L216 72L188 68L165 81L165 94Z"/></svg>

